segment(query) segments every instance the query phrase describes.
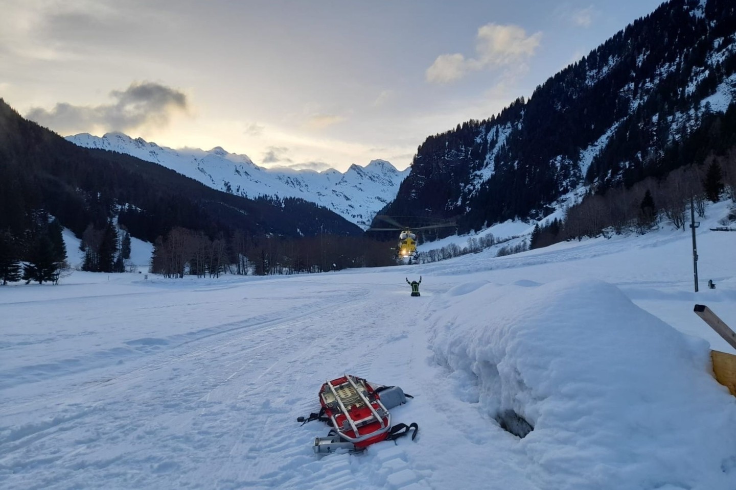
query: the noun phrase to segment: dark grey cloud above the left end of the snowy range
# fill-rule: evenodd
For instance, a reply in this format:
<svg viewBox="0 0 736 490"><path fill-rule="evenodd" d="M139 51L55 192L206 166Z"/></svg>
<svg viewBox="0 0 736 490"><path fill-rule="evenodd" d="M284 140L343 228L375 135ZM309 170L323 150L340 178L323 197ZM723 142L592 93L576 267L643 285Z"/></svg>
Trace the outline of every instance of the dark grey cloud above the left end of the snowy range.
<svg viewBox="0 0 736 490"><path fill-rule="evenodd" d="M126 90L113 90L114 104L75 106L59 103L51 110L35 107L26 118L60 134L82 131L131 131L145 126L166 126L171 115L186 112L188 102L179 90L154 82L132 83Z"/></svg>

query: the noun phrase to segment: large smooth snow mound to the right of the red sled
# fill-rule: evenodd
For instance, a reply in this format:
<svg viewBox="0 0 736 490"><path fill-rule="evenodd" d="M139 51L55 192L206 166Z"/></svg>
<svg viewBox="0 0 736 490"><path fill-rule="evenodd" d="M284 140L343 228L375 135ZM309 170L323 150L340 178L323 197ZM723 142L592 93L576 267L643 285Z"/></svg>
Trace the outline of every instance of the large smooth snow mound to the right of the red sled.
<svg viewBox="0 0 736 490"><path fill-rule="evenodd" d="M477 383L489 417L534 426L519 444L542 488L735 488L736 400L704 340L603 281L475 282L446 298L435 359Z"/></svg>

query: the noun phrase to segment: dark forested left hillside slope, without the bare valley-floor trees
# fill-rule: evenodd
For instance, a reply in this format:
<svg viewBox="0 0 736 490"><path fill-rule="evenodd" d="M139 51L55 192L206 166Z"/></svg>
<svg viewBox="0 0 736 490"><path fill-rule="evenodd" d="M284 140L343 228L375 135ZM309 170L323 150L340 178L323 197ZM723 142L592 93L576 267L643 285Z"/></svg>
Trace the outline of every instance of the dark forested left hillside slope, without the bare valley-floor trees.
<svg viewBox="0 0 736 490"><path fill-rule="evenodd" d="M25 120L0 100L0 231L13 250L51 213L82 240L85 270L121 270L117 226L153 242L174 228L232 242L237 231L299 237L362 234L355 224L302 199L247 199L206 187L161 165L80 148ZM16 242L21 245L16 245ZM116 244L116 245L115 245ZM112 257L112 258L111 258Z"/></svg>

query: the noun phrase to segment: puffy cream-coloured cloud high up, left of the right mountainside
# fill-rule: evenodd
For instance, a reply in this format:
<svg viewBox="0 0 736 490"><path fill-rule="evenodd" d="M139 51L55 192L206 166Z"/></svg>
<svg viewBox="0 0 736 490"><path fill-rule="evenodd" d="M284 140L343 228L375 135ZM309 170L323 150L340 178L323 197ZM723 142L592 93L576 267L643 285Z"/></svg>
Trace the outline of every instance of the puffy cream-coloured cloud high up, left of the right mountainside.
<svg viewBox="0 0 736 490"><path fill-rule="evenodd" d="M461 79L470 71L513 66L518 68L534 56L541 38L541 32L527 35L520 26L486 24L478 29L475 58L466 58L459 53L441 54L427 68L425 77L431 83L447 84Z"/></svg>

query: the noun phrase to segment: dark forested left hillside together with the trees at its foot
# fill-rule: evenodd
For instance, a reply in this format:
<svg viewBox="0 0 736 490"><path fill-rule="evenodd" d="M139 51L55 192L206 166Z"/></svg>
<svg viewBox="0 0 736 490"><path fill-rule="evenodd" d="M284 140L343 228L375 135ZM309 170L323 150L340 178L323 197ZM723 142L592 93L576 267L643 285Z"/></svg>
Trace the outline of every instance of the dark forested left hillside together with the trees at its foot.
<svg viewBox="0 0 736 490"><path fill-rule="evenodd" d="M33 262L32 251L48 248L47 239L57 240L61 226L82 239L88 270L123 268L118 230L160 244L173 230L197 237L197 246L179 249L187 256L181 264L202 244L208 264L187 267L188 273L217 274L244 260L258 262L255 269L263 273L372 264L365 259L371 246L361 243L361 229L328 209L297 198L251 200L132 156L79 148L0 100L0 279L17 280L19 262ZM328 245L309 260L291 243L318 236ZM353 242L338 250L339 237ZM63 267L64 255L51 254L56 269ZM182 275L184 269L157 272ZM49 273L40 282L53 280Z"/></svg>

